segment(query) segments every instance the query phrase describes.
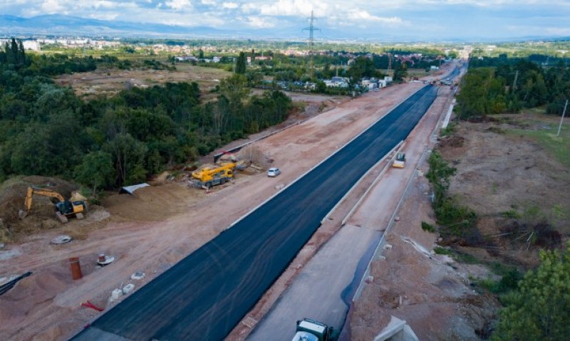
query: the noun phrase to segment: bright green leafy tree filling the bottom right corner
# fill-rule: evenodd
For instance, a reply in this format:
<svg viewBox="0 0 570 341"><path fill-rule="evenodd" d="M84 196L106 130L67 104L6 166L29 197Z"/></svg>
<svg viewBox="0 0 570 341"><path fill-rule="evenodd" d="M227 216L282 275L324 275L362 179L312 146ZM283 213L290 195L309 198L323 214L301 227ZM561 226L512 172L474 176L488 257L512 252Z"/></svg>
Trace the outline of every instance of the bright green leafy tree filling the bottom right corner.
<svg viewBox="0 0 570 341"><path fill-rule="evenodd" d="M568 340L570 243L566 251L541 251L541 263L504 298L493 340Z"/></svg>

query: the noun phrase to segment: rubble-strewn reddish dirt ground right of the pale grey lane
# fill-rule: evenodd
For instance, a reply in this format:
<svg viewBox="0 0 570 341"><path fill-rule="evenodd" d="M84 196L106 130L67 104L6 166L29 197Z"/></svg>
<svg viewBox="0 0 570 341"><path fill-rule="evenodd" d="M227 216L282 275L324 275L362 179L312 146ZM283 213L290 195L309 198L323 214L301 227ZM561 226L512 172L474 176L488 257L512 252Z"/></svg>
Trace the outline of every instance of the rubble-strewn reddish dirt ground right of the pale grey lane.
<svg viewBox="0 0 570 341"><path fill-rule="evenodd" d="M425 172L425 164L420 166ZM354 301L348 316L349 340L373 340L390 315L408 322L420 340L480 340L498 303L470 286L487 278L482 266L465 266L432 253L436 236L421 229L433 224L429 183L415 177L386 234L390 248L371 263L373 280Z"/></svg>

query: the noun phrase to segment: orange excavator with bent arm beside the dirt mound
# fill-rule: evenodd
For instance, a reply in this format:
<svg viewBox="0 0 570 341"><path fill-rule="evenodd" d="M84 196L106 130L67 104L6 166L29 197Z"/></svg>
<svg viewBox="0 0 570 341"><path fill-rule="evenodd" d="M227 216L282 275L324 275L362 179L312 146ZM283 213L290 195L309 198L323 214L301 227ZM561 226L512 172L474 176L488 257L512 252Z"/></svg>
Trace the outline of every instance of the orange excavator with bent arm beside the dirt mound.
<svg viewBox="0 0 570 341"><path fill-rule="evenodd" d="M28 193L26 194L26 199L24 201L26 211L20 211L19 215L21 219L24 219L28 212L31 210L34 194L48 196L50 198L55 198L58 200L56 203L56 217L63 224L66 224L68 222L68 217L70 216L75 216L77 219L83 219L83 212L87 211L87 204L85 201L66 200L61 194L51 189L28 187Z"/></svg>

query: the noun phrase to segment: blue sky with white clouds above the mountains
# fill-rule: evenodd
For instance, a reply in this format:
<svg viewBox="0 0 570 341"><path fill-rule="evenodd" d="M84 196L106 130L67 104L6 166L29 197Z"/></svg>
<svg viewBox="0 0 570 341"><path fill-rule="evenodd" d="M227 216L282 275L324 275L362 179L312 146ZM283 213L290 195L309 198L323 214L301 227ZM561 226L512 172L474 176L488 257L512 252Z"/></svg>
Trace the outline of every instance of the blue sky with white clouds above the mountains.
<svg viewBox="0 0 570 341"><path fill-rule="evenodd" d="M348 36L519 38L570 36L570 0L0 0L0 14L303 34L311 10L317 40Z"/></svg>

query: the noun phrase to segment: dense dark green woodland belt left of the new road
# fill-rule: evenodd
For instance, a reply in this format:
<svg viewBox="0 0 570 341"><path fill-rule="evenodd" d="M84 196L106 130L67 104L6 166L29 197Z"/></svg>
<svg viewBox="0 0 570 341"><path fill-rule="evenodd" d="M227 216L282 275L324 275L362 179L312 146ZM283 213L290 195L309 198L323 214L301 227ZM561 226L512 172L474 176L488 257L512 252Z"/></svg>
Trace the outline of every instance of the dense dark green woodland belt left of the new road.
<svg viewBox="0 0 570 341"><path fill-rule="evenodd" d="M11 46L7 51L14 53ZM48 76L66 72L55 67L62 63L81 72L83 63L108 61L17 51L24 63L0 63L0 180L55 176L95 191L134 184L282 122L291 108L279 91L250 95L239 74L222 80L209 103L200 100L197 83L185 82L82 100Z"/></svg>

